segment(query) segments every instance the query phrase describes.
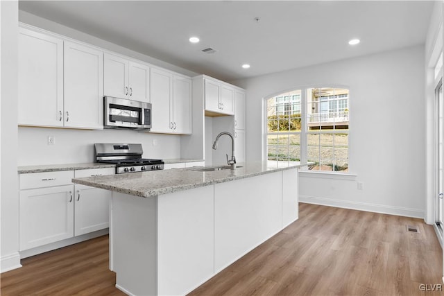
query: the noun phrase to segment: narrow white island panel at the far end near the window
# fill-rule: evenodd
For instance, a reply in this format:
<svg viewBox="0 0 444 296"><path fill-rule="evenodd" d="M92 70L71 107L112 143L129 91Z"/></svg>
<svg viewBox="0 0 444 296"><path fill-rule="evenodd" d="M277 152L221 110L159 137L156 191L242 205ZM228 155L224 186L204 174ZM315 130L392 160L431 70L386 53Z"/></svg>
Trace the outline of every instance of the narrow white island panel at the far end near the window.
<svg viewBox="0 0 444 296"><path fill-rule="evenodd" d="M299 169L282 171L282 228L298 220Z"/></svg>

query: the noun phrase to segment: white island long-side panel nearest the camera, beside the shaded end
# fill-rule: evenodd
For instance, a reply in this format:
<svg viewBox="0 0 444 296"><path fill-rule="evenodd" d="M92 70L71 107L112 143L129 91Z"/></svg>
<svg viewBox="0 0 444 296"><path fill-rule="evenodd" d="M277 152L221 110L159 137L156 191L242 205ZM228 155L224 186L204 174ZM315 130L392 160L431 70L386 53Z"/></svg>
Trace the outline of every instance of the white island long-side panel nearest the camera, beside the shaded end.
<svg viewBox="0 0 444 296"><path fill-rule="evenodd" d="M185 295L214 275L213 195L213 185L159 195L159 295Z"/></svg>

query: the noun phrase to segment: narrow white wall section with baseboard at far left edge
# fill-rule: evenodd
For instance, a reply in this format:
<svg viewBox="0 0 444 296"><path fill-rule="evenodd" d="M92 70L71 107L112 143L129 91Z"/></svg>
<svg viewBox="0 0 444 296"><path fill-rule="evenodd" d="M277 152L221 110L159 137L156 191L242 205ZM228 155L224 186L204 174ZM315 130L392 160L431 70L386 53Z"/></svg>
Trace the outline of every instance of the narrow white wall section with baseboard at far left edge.
<svg viewBox="0 0 444 296"><path fill-rule="evenodd" d="M1 6L1 272L20 265L17 195L17 19L18 2Z"/></svg>

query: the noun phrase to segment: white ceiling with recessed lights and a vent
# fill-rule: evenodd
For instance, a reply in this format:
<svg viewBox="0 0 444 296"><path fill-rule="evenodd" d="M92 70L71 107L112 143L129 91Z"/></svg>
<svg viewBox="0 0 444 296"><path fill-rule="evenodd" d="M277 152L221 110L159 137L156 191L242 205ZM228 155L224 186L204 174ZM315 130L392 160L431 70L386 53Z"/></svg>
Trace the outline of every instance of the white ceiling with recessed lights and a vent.
<svg viewBox="0 0 444 296"><path fill-rule="evenodd" d="M19 1L19 9L230 81L423 44L433 2ZM189 43L194 35L200 43ZM361 43L348 45L352 38Z"/></svg>

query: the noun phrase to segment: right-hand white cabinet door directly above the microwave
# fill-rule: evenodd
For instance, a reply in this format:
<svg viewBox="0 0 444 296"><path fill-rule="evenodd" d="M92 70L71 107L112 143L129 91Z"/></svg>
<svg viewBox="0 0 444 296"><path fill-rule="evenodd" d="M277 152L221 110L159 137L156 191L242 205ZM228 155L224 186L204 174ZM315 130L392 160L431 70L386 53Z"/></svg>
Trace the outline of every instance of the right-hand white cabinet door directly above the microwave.
<svg viewBox="0 0 444 296"><path fill-rule="evenodd" d="M128 98L149 103L150 101L150 67L137 62L129 64Z"/></svg>

